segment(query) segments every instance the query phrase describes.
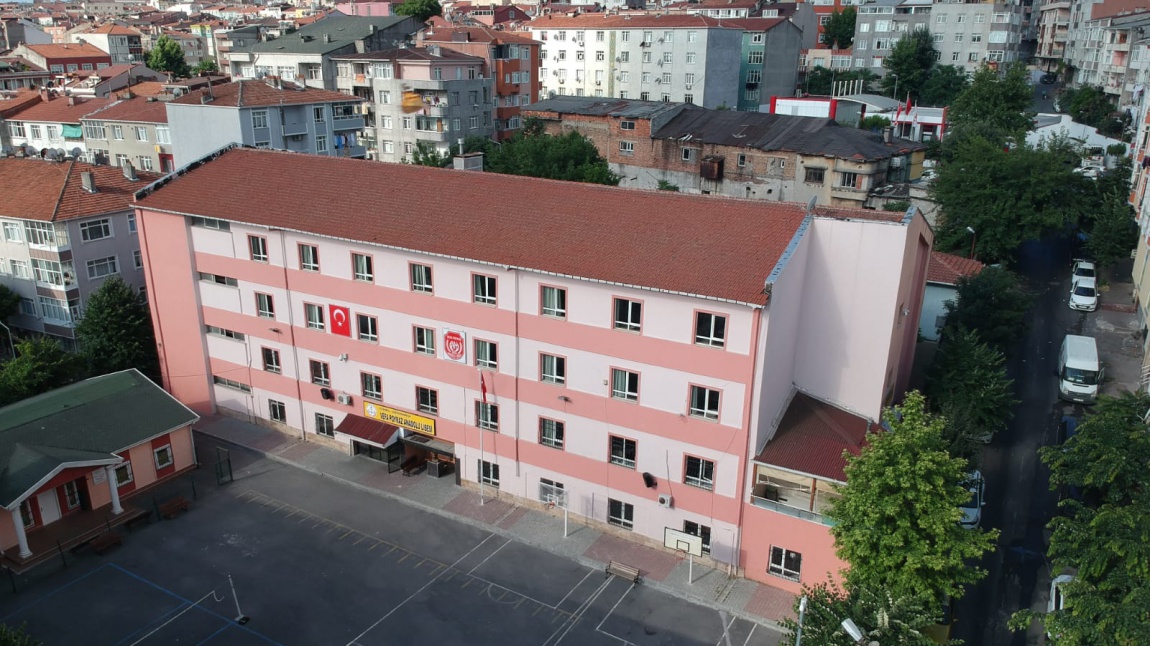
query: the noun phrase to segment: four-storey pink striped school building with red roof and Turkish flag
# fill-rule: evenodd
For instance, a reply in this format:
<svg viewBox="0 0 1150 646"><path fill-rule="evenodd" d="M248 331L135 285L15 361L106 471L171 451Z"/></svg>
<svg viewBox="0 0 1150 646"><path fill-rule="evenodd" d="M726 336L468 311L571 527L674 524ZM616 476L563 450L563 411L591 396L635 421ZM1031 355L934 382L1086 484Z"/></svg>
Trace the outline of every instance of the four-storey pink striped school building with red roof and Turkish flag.
<svg viewBox="0 0 1150 646"><path fill-rule="evenodd" d="M917 210L247 148L137 214L192 409L695 533L788 590L842 567L820 506L905 389L931 244Z"/></svg>

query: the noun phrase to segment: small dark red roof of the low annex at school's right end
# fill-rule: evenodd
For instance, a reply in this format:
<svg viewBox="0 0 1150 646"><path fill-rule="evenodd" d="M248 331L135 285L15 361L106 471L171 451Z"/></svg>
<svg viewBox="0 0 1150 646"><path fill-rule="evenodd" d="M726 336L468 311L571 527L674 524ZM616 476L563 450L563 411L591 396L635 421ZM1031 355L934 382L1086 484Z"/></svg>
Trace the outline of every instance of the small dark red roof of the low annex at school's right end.
<svg viewBox="0 0 1150 646"><path fill-rule="evenodd" d="M871 422L804 393L795 393L756 462L846 482L843 452L858 455Z"/></svg>

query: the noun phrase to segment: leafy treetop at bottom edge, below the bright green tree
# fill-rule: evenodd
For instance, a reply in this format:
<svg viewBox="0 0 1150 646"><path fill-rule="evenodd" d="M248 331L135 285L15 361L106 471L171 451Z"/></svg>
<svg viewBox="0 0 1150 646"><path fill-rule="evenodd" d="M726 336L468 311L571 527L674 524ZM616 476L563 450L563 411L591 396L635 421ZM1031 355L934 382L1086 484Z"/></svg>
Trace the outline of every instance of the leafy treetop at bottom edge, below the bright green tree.
<svg viewBox="0 0 1150 646"><path fill-rule="evenodd" d="M854 641L843 631L842 621L850 617L867 640L879 644L905 646L937 646L926 635L940 612L938 603L922 599L894 598L874 589L842 590L820 583L803 586L807 598L803 616L804 644L819 646L853 646ZM796 600L796 613L798 600ZM793 644L798 622L783 620L788 637L782 644Z"/></svg>

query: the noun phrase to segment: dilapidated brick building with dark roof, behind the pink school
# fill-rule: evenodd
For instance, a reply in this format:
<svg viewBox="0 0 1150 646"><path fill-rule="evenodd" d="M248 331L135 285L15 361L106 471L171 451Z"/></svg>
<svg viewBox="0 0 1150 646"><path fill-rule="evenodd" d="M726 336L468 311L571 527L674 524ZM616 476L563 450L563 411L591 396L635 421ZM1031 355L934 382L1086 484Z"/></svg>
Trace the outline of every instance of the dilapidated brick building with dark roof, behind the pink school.
<svg viewBox="0 0 1150 646"><path fill-rule="evenodd" d="M875 207L875 191L917 179L923 144L833 118L707 110L559 97L528 110L551 133L576 130L599 149L620 186L843 208Z"/></svg>

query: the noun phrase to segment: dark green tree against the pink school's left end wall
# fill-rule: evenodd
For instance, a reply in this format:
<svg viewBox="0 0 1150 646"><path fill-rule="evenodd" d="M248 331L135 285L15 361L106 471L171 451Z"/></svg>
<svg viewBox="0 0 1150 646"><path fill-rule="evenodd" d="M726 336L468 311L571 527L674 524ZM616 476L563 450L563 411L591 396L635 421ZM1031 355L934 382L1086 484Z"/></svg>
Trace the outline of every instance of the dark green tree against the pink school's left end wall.
<svg viewBox="0 0 1150 646"><path fill-rule="evenodd" d="M76 337L91 375L129 368L153 378L160 375L147 301L120 276L105 279L89 297Z"/></svg>

